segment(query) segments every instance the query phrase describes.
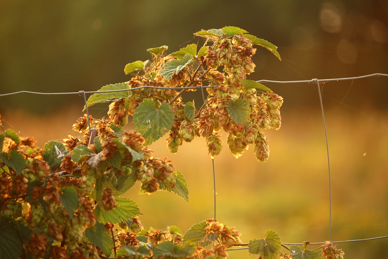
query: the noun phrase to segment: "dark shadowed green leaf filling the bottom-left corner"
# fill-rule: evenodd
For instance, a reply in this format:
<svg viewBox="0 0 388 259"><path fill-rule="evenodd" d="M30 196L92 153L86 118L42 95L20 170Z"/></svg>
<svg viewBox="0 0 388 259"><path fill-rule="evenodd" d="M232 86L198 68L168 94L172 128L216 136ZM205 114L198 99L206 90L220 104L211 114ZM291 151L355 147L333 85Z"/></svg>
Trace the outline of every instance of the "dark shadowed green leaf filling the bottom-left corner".
<svg viewBox="0 0 388 259"><path fill-rule="evenodd" d="M15 225L5 219L0 221L0 258L18 259L22 249L23 245Z"/></svg>

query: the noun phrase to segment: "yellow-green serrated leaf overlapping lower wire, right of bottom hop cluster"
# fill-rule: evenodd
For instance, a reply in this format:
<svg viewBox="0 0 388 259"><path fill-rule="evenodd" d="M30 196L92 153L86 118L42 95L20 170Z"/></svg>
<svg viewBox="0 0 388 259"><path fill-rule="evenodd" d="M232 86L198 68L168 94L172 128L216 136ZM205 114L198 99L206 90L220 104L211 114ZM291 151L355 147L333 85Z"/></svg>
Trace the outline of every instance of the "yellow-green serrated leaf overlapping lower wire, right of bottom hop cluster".
<svg viewBox="0 0 388 259"><path fill-rule="evenodd" d="M264 259L276 259L282 244L280 240L275 231L268 229L265 238L249 241L249 253L260 254Z"/></svg>

